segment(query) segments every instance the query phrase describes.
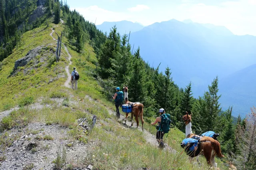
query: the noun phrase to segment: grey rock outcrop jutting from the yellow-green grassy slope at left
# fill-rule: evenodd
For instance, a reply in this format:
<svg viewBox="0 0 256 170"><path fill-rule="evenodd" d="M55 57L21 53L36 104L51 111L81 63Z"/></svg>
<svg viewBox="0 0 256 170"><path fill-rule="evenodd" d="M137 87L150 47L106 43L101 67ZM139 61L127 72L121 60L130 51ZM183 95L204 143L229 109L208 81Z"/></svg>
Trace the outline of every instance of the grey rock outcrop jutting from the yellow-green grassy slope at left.
<svg viewBox="0 0 256 170"><path fill-rule="evenodd" d="M30 60L34 59L34 57L36 57L39 54L42 47L43 46L36 47L36 48L28 51L28 53L26 54L25 57L16 60L15 64L14 64L14 71L16 71L18 67L23 67L23 66L27 65Z"/></svg>

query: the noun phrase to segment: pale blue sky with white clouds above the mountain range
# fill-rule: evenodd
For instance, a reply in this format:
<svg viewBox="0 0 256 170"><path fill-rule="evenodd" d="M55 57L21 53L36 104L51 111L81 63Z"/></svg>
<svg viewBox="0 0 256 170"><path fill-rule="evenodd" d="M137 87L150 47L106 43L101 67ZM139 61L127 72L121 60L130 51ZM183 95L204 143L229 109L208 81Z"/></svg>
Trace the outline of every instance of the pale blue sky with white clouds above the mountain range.
<svg viewBox="0 0 256 170"><path fill-rule="evenodd" d="M256 0L67 0L86 20L128 20L147 26L171 19L226 26L256 36Z"/></svg>

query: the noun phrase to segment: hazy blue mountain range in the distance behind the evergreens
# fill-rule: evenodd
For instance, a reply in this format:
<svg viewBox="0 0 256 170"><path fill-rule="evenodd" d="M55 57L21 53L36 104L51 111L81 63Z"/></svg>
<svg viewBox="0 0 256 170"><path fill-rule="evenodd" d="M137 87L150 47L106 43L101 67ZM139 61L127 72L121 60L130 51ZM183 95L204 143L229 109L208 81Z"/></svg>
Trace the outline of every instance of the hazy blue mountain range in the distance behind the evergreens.
<svg viewBox="0 0 256 170"><path fill-rule="evenodd" d="M121 35L131 31L130 43L134 50L140 47L142 58L150 65L161 63L160 71L170 67L180 87L191 81L194 97L203 95L218 75L222 109L233 106L233 115L243 116L255 105L252 86L256 80L251 77L256 73L256 37L234 35L224 26L174 19L145 27L108 22L97 28L110 30L114 24Z"/></svg>

